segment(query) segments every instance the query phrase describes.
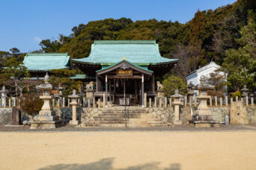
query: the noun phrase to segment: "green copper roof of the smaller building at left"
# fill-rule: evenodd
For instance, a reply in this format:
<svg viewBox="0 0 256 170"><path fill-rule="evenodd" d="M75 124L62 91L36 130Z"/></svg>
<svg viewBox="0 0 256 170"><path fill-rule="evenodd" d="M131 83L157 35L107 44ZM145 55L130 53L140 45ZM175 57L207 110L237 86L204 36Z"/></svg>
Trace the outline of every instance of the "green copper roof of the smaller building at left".
<svg viewBox="0 0 256 170"><path fill-rule="evenodd" d="M70 69L70 56L67 53L28 53L23 64L31 72Z"/></svg>

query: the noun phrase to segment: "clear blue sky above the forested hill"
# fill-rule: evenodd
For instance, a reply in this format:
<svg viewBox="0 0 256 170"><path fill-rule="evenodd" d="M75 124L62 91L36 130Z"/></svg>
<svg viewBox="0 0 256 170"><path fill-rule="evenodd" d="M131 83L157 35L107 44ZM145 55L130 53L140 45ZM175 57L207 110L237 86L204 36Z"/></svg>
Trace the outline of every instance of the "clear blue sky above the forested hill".
<svg viewBox="0 0 256 170"><path fill-rule="evenodd" d="M121 17L188 22L199 10L235 0L0 0L0 51L40 49L40 40L69 35L81 23Z"/></svg>

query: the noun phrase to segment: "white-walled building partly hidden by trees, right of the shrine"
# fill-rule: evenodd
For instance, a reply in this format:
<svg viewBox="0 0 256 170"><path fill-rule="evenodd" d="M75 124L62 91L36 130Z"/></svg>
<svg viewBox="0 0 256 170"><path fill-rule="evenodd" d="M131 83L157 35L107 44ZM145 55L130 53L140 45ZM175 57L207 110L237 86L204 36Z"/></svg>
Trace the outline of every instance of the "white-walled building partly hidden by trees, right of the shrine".
<svg viewBox="0 0 256 170"><path fill-rule="evenodd" d="M200 77L201 75L204 75L206 78L210 78L210 73L213 73L216 71L216 69L219 69L221 66L216 64L214 61L208 63L207 65L201 67L200 69L195 70L195 72L190 73L186 76L186 83L189 84L189 81L192 81L192 84L197 86L200 84ZM225 75L224 72L219 72L220 75ZM198 94L198 90L195 90L195 93Z"/></svg>

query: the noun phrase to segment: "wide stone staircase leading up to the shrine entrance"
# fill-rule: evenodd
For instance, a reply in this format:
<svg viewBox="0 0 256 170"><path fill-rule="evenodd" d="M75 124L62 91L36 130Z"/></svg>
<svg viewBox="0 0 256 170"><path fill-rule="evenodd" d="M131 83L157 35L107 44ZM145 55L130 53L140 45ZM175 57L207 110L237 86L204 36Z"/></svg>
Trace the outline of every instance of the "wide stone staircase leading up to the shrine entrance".
<svg viewBox="0 0 256 170"><path fill-rule="evenodd" d="M142 107L109 107L94 119L82 122L80 127L167 127L159 116L153 116Z"/></svg>

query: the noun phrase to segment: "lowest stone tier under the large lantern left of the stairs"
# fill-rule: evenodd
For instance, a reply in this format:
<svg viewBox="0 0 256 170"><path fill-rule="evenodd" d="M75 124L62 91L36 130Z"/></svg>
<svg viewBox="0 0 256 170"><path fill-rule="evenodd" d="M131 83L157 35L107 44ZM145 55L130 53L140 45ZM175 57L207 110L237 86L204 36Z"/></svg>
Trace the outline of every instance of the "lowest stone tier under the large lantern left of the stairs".
<svg viewBox="0 0 256 170"><path fill-rule="evenodd" d="M61 126L61 121L34 121L30 129L55 129Z"/></svg>

